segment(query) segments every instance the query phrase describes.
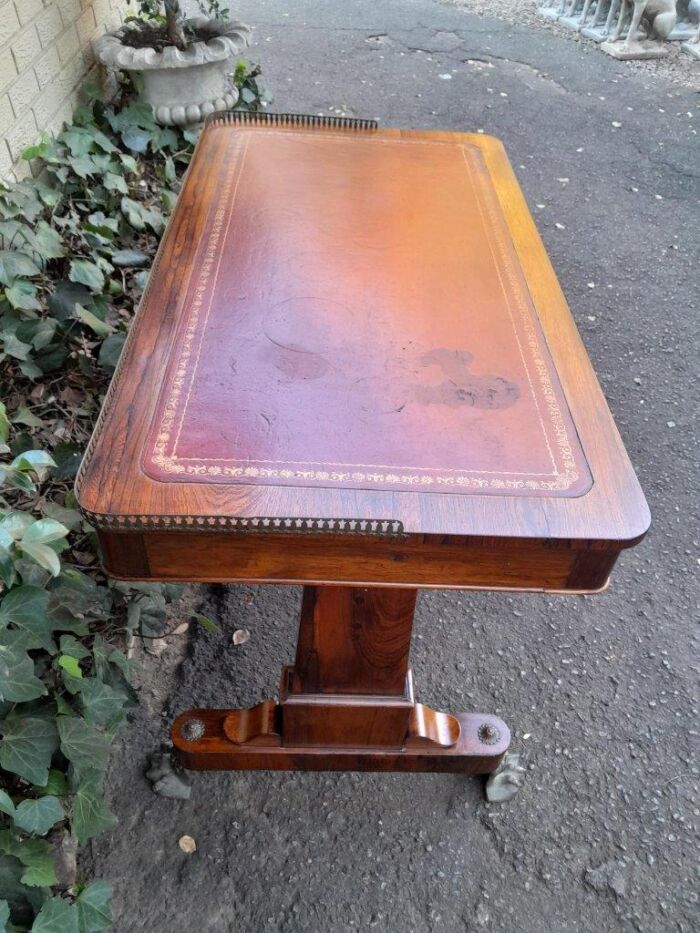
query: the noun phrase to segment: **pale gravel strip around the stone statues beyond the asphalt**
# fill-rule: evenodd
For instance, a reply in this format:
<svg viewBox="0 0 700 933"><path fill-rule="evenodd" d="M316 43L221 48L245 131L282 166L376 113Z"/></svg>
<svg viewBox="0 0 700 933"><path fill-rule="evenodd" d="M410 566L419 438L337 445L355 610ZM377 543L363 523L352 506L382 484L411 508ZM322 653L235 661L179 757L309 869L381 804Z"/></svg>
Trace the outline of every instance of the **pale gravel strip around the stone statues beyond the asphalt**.
<svg viewBox="0 0 700 933"><path fill-rule="evenodd" d="M585 36L581 36L565 26L560 26L557 22L539 16L537 10L539 7L544 6L542 0L440 0L440 2L448 6L461 7L464 10L469 10L470 13L495 16L507 23L544 29L562 39L568 39L569 42L577 42L594 49L597 48L597 44L591 39L586 39ZM630 61L620 64L628 74L639 75L643 80L653 76L696 91L700 89L700 60L691 58L685 52L682 52L680 42L669 42L668 50L669 55L667 58L659 58L653 61ZM604 55L605 53L597 52L597 54Z"/></svg>

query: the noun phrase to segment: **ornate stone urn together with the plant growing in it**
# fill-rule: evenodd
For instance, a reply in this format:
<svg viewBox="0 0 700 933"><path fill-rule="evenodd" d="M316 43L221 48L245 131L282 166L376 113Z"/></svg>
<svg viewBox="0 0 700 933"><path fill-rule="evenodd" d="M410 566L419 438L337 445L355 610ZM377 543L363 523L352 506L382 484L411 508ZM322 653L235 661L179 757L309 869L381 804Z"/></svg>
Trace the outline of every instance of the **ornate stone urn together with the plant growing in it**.
<svg viewBox="0 0 700 933"><path fill-rule="evenodd" d="M98 61L130 72L139 99L158 123L199 123L238 100L231 59L248 44L250 30L231 22L219 0L200 0L207 16L186 19L179 0L136 0L140 17L94 44Z"/></svg>

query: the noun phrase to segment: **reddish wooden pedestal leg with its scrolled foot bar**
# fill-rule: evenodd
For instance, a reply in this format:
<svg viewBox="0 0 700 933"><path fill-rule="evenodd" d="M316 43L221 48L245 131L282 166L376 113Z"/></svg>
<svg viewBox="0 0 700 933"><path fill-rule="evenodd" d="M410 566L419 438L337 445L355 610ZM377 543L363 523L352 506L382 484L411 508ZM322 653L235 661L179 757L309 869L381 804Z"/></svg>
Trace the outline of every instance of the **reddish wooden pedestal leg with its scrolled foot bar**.
<svg viewBox="0 0 700 933"><path fill-rule="evenodd" d="M508 727L416 703L408 656L416 590L307 586L280 700L188 710L173 724L194 770L451 771L487 774Z"/></svg>

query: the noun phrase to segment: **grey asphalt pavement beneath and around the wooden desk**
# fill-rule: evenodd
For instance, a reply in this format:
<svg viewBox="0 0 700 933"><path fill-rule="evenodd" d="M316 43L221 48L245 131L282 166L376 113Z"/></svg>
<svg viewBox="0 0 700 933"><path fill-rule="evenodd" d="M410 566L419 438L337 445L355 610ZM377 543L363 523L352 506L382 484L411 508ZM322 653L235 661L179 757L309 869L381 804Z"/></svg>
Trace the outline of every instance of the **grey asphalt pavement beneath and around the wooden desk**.
<svg viewBox="0 0 700 933"><path fill-rule="evenodd" d="M154 796L145 759L172 717L274 694L293 656L298 590L201 591L223 632L146 664L111 768L120 823L82 870L114 884L116 933L697 930L693 96L539 22L431 0L235 14L257 27L278 110L505 141L653 525L599 596L421 595L420 698L503 716L527 765L500 806L479 779L437 775L200 774L189 801ZM238 628L251 638L234 647Z"/></svg>

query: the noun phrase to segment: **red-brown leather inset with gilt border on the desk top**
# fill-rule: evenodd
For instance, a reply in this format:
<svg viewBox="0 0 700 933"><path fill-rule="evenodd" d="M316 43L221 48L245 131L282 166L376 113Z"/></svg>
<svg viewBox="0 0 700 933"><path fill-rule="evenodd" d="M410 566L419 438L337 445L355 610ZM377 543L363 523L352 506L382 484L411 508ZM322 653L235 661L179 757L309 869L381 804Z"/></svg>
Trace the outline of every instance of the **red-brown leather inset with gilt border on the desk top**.
<svg viewBox="0 0 700 933"><path fill-rule="evenodd" d="M479 149L239 128L143 468L579 496L586 458Z"/></svg>

